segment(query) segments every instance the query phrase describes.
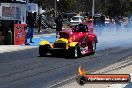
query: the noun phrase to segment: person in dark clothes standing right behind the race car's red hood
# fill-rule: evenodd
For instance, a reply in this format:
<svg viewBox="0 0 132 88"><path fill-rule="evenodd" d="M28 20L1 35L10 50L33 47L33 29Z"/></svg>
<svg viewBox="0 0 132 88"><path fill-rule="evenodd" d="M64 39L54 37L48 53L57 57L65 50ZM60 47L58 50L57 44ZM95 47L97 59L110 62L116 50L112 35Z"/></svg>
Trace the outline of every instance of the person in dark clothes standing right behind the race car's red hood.
<svg viewBox="0 0 132 88"><path fill-rule="evenodd" d="M63 26L63 19L61 18L61 15L58 15L58 17L55 20L56 22L56 38L60 31L62 31Z"/></svg>

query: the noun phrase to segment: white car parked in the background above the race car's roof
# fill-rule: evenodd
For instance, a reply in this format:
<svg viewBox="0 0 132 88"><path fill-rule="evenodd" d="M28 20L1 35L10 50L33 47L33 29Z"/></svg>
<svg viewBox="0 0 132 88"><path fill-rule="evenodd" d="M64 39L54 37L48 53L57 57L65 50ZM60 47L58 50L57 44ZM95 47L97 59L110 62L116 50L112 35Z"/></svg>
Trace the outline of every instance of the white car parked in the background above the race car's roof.
<svg viewBox="0 0 132 88"><path fill-rule="evenodd" d="M70 27L74 27L83 22L83 16L73 16L70 21Z"/></svg>

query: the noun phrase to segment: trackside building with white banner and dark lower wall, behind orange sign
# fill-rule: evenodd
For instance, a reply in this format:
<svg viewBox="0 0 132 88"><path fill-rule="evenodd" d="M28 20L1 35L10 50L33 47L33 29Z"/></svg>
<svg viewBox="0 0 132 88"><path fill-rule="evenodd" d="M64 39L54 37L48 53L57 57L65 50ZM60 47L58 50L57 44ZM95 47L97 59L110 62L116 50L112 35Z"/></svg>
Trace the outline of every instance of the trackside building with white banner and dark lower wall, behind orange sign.
<svg viewBox="0 0 132 88"><path fill-rule="evenodd" d="M37 18L38 6L35 0L0 0L0 44L14 44L16 24L26 24L27 12L34 11Z"/></svg>

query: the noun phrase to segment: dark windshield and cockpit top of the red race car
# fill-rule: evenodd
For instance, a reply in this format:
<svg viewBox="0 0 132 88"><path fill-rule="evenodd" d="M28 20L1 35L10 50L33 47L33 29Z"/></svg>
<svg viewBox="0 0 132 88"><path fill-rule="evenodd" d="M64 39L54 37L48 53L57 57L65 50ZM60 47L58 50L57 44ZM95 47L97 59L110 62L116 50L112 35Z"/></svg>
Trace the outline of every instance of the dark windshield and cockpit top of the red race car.
<svg viewBox="0 0 132 88"><path fill-rule="evenodd" d="M84 25L84 24L79 24L79 25L76 25L73 30L73 32L87 32L88 31L88 27L87 25Z"/></svg>

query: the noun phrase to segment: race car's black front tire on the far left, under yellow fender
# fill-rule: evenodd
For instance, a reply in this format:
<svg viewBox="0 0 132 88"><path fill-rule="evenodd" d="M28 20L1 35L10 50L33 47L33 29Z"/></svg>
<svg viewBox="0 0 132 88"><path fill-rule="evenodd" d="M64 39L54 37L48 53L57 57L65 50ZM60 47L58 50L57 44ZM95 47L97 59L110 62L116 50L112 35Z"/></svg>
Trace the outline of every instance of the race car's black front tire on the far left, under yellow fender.
<svg viewBox="0 0 132 88"><path fill-rule="evenodd" d="M46 56L47 53L48 53L49 48L50 48L49 45L40 45L39 46L39 55L40 55L40 57Z"/></svg>

